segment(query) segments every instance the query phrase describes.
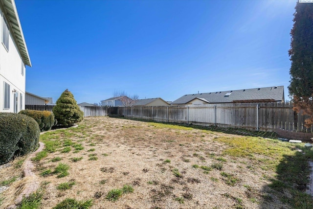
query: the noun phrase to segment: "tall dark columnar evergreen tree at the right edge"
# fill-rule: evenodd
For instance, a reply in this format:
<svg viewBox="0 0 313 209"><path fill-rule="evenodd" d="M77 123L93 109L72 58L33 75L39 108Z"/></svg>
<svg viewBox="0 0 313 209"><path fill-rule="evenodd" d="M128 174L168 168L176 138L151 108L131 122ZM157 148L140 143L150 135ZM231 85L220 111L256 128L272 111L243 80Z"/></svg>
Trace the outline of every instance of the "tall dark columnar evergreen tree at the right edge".
<svg viewBox="0 0 313 209"><path fill-rule="evenodd" d="M306 126L313 124L313 4L299 3L295 6L291 29L291 81L289 94L294 110L311 116Z"/></svg>

